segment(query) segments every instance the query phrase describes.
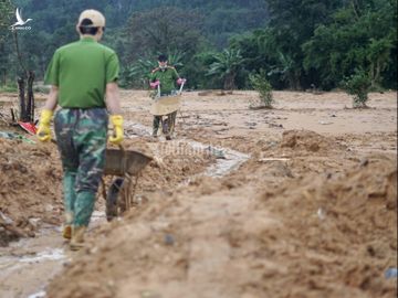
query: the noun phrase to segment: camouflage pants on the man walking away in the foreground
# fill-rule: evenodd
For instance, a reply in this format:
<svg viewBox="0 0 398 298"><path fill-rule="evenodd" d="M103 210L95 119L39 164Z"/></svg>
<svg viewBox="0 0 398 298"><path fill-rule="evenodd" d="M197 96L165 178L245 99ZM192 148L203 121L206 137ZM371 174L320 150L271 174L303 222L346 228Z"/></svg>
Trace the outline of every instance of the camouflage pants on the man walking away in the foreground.
<svg viewBox="0 0 398 298"><path fill-rule="evenodd" d="M107 124L105 108L64 108L55 115L66 224L87 226L90 223L105 167Z"/></svg>

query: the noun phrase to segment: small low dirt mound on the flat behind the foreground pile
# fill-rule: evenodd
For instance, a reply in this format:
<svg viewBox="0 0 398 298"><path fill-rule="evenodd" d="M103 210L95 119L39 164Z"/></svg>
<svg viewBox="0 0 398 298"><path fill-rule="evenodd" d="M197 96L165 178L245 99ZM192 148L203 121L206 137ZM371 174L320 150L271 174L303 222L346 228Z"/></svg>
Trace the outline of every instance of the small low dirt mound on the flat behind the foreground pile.
<svg viewBox="0 0 398 298"><path fill-rule="evenodd" d="M336 147L336 142L310 130L286 130L282 134L281 147L318 152Z"/></svg>

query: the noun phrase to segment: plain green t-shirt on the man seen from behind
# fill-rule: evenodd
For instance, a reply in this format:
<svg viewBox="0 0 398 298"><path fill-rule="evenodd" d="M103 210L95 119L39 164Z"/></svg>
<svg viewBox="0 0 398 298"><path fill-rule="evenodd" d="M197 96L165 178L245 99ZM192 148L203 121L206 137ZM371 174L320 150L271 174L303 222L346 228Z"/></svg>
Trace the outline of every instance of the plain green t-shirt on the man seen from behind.
<svg viewBox="0 0 398 298"><path fill-rule="evenodd" d="M55 51L44 82L59 87L59 105L64 108L105 107L106 84L118 79L116 53L83 38Z"/></svg>

